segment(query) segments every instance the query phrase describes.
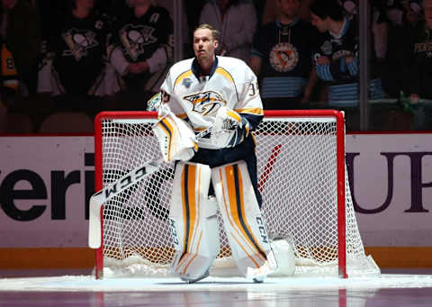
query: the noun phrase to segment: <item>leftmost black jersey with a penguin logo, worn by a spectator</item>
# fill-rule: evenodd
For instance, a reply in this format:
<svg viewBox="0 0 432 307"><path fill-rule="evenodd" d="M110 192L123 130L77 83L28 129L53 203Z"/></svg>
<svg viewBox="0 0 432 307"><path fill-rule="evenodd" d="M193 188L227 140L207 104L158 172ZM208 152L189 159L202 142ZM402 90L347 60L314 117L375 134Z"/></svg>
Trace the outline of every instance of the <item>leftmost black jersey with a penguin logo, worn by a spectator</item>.
<svg viewBox="0 0 432 307"><path fill-rule="evenodd" d="M104 68L107 28L102 16L76 18L67 14L51 34L48 48L54 53L53 68L67 94L92 94Z"/></svg>

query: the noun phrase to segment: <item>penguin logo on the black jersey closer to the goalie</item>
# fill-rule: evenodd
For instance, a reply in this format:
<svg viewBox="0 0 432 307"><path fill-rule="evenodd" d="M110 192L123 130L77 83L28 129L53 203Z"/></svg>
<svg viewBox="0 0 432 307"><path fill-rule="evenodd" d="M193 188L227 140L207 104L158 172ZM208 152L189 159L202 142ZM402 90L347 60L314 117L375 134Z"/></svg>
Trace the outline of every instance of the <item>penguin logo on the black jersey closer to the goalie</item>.
<svg viewBox="0 0 432 307"><path fill-rule="evenodd" d="M130 59L136 60L144 53L144 46L154 43L157 38L153 35L155 29L147 25L126 24L121 28L120 40Z"/></svg>

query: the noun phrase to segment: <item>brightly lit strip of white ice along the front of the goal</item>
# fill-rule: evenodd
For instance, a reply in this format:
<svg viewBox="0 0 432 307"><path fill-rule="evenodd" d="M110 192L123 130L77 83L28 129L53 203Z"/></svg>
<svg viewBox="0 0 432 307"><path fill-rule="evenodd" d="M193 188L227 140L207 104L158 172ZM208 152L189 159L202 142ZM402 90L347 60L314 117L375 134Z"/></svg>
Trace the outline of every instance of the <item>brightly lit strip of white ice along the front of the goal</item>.
<svg viewBox="0 0 432 307"><path fill-rule="evenodd" d="M96 280L93 275L19 277L0 279L0 291L287 291L287 290L365 290L383 288L432 287L432 275L382 274L367 277L273 277L254 284L242 277L208 277L195 284L177 278L113 278Z"/></svg>

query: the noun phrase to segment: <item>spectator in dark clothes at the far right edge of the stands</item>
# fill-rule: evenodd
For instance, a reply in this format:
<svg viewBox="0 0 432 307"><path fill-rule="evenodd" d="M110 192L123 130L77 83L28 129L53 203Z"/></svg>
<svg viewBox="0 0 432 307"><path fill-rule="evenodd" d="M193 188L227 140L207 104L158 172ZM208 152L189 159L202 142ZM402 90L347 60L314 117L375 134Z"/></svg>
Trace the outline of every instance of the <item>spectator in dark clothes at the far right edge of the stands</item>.
<svg viewBox="0 0 432 307"><path fill-rule="evenodd" d="M408 33L410 49L404 57L408 74L406 84L411 104L419 99L432 100L432 0L425 0L424 19ZM414 130L432 130L432 105L416 107Z"/></svg>

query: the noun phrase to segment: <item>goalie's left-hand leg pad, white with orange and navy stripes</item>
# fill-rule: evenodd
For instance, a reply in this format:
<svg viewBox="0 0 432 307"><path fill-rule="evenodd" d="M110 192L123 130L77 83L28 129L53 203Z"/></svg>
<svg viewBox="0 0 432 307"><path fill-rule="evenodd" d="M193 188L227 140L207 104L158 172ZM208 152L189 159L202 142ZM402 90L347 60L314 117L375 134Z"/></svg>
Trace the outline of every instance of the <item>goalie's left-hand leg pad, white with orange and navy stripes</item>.
<svg viewBox="0 0 432 307"><path fill-rule="evenodd" d="M206 273L220 251L217 203L208 197L211 169L180 162L175 167L169 221L175 245L171 271L193 283Z"/></svg>

